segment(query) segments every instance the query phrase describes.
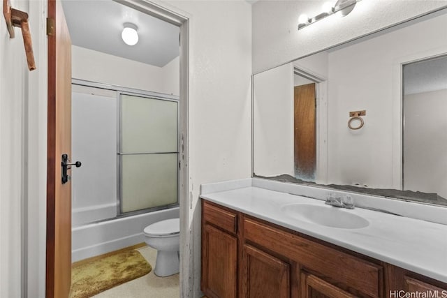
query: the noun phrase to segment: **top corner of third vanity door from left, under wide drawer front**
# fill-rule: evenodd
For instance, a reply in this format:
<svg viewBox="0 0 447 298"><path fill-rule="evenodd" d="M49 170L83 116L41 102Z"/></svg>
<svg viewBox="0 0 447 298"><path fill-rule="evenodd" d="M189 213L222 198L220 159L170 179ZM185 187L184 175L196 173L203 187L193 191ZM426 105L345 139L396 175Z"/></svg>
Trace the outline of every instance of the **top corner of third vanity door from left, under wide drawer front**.
<svg viewBox="0 0 447 298"><path fill-rule="evenodd" d="M300 278L302 298L354 298L351 295L335 285L323 281L312 274L302 273Z"/></svg>

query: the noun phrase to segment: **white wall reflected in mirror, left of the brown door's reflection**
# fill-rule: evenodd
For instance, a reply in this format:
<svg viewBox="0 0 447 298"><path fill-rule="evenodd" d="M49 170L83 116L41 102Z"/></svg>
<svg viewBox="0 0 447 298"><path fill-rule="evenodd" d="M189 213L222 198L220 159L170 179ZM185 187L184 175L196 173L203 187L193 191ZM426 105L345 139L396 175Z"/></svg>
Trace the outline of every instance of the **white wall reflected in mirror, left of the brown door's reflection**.
<svg viewBox="0 0 447 298"><path fill-rule="evenodd" d="M295 175L293 64L254 76L254 174Z"/></svg>

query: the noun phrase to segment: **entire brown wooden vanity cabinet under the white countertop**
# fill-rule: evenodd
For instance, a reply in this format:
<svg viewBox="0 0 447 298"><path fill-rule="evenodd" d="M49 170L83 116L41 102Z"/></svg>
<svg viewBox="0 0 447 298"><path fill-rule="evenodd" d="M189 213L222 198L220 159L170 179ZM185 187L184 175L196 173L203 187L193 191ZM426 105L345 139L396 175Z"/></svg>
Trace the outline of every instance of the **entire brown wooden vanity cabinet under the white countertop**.
<svg viewBox="0 0 447 298"><path fill-rule="evenodd" d="M207 297L397 297L397 291L436 290L447 295L445 283L202 201Z"/></svg>

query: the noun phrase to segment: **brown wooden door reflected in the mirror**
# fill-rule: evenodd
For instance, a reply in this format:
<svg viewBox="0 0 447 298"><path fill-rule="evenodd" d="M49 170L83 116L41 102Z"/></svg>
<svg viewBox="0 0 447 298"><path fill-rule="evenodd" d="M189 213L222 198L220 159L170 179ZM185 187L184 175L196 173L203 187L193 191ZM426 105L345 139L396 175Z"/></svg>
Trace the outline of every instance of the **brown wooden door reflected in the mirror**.
<svg viewBox="0 0 447 298"><path fill-rule="evenodd" d="M315 181L316 169L316 83L295 75L294 165L295 177ZM307 83L307 84L302 84Z"/></svg>

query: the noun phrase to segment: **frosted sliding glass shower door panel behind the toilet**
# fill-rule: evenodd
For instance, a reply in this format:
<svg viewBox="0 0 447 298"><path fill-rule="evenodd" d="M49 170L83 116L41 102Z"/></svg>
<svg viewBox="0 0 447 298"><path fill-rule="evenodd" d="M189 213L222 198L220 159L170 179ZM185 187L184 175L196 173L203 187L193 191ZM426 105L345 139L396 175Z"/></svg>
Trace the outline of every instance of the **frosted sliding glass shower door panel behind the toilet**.
<svg viewBox="0 0 447 298"><path fill-rule="evenodd" d="M120 96L119 214L178 204L178 102Z"/></svg>

